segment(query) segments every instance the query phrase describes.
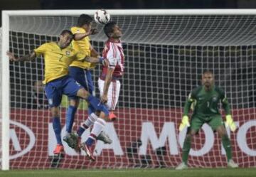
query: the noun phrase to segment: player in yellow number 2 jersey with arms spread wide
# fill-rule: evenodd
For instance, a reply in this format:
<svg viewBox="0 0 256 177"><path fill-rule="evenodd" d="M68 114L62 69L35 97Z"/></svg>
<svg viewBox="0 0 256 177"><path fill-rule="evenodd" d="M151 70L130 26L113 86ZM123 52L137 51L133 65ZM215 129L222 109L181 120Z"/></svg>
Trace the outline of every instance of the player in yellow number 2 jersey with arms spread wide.
<svg viewBox="0 0 256 177"><path fill-rule="evenodd" d="M61 126L60 126L60 102L62 95L68 95L70 97L80 97L87 100L92 107L96 110L92 114L92 117L100 124L101 127L93 130L90 136L97 137L102 129L105 127L105 120L109 114L107 108L104 104L100 103L96 97L90 95L84 87L82 87L78 82L76 82L73 77L68 75L68 66L73 60L85 60L91 63L98 63L98 58L90 58L82 53L74 45L70 45L73 40L73 33L68 30L64 30L60 33L60 38L58 42L44 43L39 46L32 53L28 55L16 58L13 53L7 52L9 59L11 61L30 61L34 60L37 56L43 55L45 62L45 75L43 83L46 85L46 97L48 99L50 112L53 117L53 130L57 139L57 146L55 148L54 154L60 154L63 152L63 144L60 137ZM82 145L82 149L88 159L95 160L92 156L92 143L94 139L86 141L86 144Z"/></svg>

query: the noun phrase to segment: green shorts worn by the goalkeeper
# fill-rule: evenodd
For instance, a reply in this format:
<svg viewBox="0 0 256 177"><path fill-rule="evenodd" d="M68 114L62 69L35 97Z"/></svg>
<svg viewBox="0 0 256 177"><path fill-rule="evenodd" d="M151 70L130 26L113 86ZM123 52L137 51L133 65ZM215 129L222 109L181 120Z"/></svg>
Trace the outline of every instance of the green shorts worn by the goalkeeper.
<svg viewBox="0 0 256 177"><path fill-rule="evenodd" d="M220 115L215 115L211 117L199 117L197 115L193 115L191 117L191 127L189 128L198 132L198 130L201 129L204 123L208 124L213 130L216 130L218 127L224 125L223 119Z"/></svg>

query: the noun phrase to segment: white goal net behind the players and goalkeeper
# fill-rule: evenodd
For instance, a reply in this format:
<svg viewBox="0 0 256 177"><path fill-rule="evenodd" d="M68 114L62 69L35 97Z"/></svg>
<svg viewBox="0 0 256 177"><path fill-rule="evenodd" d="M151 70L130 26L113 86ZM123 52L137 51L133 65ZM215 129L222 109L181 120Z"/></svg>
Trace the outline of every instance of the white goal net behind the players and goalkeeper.
<svg viewBox="0 0 256 177"><path fill-rule="evenodd" d="M53 14L54 12L54 14ZM82 13L95 11L21 11L9 15L9 50L30 53L48 41L57 41L60 31L75 26ZM201 85L201 74L212 70L215 84L225 90L239 129L228 134L233 159L241 167L256 166L256 11L230 14L214 10L109 11L122 28L125 72L116 110L116 122L105 132L110 145L97 141L96 161L76 154L65 142L65 156L54 161L56 141L47 103L34 107L34 82L43 80L43 58L34 62L9 63L10 77L10 168L163 168L181 162L186 131L178 132L183 105L191 90ZM59 13L59 14L58 14ZM46 15L48 14L48 15ZM102 52L105 34L91 36ZM4 27L4 26L3 26ZM3 29L4 30L4 29ZM4 37L4 36L3 36ZM2 51L3 52L3 51ZM5 51L4 51L5 52ZM8 60L5 56L2 60ZM100 68L94 70L95 91ZM4 93L3 93L4 94ZM6 104L6 102L1 102ZM68 105L63 98L61 123ZM224 116L224 112L223 112ZM75 117L75 131L87 118L83 102ZM63 128L63 134L65 128ZM89 132L82 135L87 139ZM2 144L8 146L8 144ZM192 167L226 166L220 137L207 124L192 141L188 158Z"/></svg>

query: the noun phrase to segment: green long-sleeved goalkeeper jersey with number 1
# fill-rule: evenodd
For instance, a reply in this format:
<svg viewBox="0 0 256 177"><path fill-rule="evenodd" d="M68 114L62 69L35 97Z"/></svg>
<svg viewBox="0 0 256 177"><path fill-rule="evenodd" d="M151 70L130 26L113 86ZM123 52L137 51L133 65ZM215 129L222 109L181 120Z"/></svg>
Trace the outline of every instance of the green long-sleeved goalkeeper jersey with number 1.
<svg viewBox="0 0 256 177"><path fill-rule="evenodd" d="M183 115L188 115L191 108L193 109L194 116L212 117L216 114L220 115L220 102L223 104L225 114L230 114L230 105L223 90L217 86L213 86L209 91L206 91L203 86L196 87L189 94L188 100L186 100Z"/></svg>

